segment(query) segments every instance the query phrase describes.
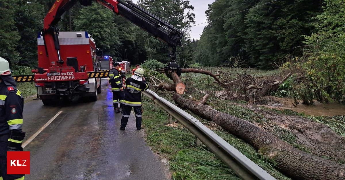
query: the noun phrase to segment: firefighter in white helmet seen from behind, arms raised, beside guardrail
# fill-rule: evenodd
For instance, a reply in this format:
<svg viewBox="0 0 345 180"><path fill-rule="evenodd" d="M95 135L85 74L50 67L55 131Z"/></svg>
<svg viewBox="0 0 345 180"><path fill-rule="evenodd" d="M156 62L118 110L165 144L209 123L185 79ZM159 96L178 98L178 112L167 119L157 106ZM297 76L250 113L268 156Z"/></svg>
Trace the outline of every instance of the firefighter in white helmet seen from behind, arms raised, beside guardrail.
<svg viewBox="0 0 345 180"><path fill-rule="evenodd" d="M124 103L122 103L123 112L120 130L125 130L132 107L134 108L137 130L141 129L141 92L149 88L145 78L142 77L143 75L144 70L138 68L135 70L134 75L126 80L126 94Z"/></svg>

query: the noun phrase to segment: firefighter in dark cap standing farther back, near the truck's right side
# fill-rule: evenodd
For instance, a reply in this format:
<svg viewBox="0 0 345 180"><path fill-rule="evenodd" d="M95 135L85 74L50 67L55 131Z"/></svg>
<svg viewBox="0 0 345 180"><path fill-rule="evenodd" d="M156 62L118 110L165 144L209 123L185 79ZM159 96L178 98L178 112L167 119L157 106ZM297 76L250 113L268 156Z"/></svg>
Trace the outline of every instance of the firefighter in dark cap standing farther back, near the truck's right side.
<svg viewBox="0 0 345 180"><path fill-rule="evenodd" d="M121 106L121 103L124 101L124 88L122 88L122 78L120 76L120 64L114 63L114 67L109 72L109 83L111 85L112 103L114 104L115 113L121 112L119 109L118 102Z"/></svg>

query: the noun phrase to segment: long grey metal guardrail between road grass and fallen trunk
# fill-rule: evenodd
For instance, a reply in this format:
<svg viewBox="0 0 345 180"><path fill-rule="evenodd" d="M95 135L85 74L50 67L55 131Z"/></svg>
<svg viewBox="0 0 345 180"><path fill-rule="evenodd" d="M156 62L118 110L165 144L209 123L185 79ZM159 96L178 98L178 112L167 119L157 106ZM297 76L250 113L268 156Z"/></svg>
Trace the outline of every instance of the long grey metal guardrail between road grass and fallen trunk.
<svg viewBox="0 0 345 180"><path fill-rule="evenodd" d="M275 180L274 177L207 128L198 119L149 89L143 92L143 94L154 100L155 110L157 105L159 105L169 114L169 123L171 123L172 118L175 118L195 135L196 144L199 144L199 140L203 142L220 160L232 169L238 177L245 180Z"/></svg>

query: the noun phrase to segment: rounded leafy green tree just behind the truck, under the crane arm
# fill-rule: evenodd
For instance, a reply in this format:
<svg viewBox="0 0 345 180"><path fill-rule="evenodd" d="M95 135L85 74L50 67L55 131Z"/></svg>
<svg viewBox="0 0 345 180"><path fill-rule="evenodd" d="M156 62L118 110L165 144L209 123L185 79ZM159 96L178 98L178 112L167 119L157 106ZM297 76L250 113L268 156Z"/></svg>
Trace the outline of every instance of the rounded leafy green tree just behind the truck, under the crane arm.
<svg viewBox="0 0 345 180"><path fill-rule="evenodd" d="M103 53L120 56L119 30L114 22L114 13L101 5L93 3L79 11L80 15L74 20L76 31L87 31L95 39L98 48Z"/></svg>

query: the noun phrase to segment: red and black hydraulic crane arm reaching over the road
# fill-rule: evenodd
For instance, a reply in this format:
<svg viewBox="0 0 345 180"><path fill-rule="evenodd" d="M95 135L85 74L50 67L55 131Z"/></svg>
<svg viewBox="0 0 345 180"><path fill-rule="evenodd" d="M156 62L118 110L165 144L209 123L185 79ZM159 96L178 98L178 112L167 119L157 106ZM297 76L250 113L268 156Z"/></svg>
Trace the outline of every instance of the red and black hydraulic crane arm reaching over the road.
<svg viewBox="0 0 345 180"><path fill-rule="evenodd" d="M83 6L91 5L93 0L80 0ZM132 23L138 25L141 29L144 29L153 36L159 38L163 42L167 43L168 46L172 47L172 53L170 54L171 59L175 62L176 46L182 45L181 38L184 33L169 24L168 22L158 18L156 15L146 11L145 9L137 6L131 1L121 0L95 0L102 6L112 10L118 15L128 19ZM60 44L58 40L58 30L56 25L61 19L61 16L69 11L77 0L56 0L49 12L44 19L44 28L42 35L45 42L46 53L49 57L50 64L57 66L63 64L64 61L60 56Z"/></svg>

